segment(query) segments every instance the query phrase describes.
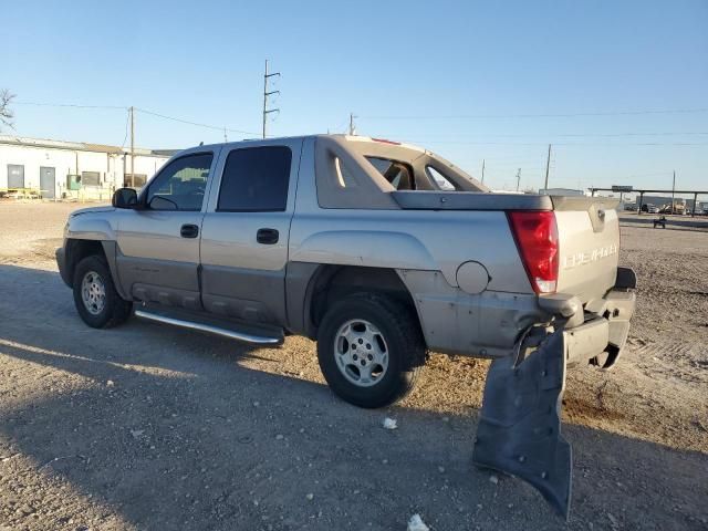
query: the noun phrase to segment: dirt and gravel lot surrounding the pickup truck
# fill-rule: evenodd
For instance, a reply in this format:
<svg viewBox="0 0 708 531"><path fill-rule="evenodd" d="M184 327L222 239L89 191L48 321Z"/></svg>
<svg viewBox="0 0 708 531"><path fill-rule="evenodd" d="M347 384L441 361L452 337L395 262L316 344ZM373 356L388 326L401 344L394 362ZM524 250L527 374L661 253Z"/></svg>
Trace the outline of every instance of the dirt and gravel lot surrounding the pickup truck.
<svg viewBox="0 0 708 531"><path fill-rule="evenodd" d="M569 377L565 523L471 465L486 362L433 355L371 412L306 340L88 329L53 262L73 208L0 202L1 530L708 529L708 230L623 220L638 313L616 369Z"/></svg>

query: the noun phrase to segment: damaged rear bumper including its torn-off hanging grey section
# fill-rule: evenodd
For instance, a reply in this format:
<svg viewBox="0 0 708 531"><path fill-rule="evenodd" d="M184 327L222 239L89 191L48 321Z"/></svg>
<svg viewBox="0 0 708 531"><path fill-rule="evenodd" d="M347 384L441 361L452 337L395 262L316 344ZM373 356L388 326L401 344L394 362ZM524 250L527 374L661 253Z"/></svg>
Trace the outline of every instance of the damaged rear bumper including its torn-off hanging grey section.
<svg viewBox="0 0 708 531"><path fill-rule="evenodd" d="M620 357L636 304L636 275L621 269L613 290L585 308L574 298L544 298L540 304L562 317L555 331L528 355L522 337L487 374L473 462L528 481L565 518L573 472L561 434L565 371L589 360L606 368Z"/></svg>

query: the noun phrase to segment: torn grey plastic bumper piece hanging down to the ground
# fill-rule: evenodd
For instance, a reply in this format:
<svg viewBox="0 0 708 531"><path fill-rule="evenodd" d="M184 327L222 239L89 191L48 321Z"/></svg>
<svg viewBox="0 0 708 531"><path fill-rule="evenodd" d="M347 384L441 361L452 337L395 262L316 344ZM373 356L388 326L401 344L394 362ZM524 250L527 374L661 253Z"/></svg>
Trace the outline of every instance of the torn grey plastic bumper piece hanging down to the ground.
<svg viewBox="0 0 708 531"><path fill-rule="evenodd" d="M528 481L568 519L572 455L561 435L563 331L519 357L497 360L489 368L472 460Z"/></svg>

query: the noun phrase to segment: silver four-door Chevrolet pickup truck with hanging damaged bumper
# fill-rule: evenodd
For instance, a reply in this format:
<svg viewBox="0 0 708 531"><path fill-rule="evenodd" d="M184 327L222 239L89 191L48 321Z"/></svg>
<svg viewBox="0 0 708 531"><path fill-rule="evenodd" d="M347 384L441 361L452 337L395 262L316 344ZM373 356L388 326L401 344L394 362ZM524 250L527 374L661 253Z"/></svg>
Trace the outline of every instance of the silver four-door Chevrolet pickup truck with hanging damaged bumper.
<svg viewBox="0 0 708 531"><path fill-rule="evenodd" d="M56 259L90 326L134 313L254 345L304 335L362 407L404 396L427 351L492 358L473 460L568 513L565 369L611 367L635 306L615 207L492 194L389 140L248 140L184 150L139 194L75 211Z"/></svg>

